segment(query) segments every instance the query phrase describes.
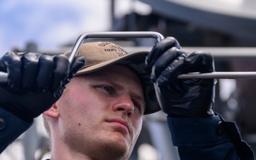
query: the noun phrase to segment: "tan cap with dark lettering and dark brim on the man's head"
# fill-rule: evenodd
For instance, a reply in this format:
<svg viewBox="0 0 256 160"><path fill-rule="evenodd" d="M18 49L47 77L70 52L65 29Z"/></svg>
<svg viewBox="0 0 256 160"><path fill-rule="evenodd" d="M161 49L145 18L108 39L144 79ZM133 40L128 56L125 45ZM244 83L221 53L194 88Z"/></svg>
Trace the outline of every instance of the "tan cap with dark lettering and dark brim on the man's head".
<svg viewBox="0 0 256 160"><path fill-rule="evenodd" d="M68 55L70 51L64 53ZM82 43L77 56L83 55L85 65L78 70L76 75L92 73L107 66L120 64L134 71L142 82L146 110L144 114L151 114L160 109L156 100L153 82L150 80L151 68L145 62L149 52L128 53L117 44L110 42Z"/></svg>

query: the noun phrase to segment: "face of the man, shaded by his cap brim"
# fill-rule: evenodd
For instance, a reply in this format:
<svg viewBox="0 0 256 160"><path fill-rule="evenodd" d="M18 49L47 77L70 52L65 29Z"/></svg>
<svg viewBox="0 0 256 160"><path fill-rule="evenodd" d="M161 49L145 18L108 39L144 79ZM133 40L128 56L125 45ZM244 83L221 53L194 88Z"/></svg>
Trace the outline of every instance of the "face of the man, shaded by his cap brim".
<svg viewBox="0 0 256 160"><path fill-rule="evenodd" d="M70 150L95 159L128 159L145 110L142 85L132 70L112 65L75 77L56 106L59 136Z"/></svg>

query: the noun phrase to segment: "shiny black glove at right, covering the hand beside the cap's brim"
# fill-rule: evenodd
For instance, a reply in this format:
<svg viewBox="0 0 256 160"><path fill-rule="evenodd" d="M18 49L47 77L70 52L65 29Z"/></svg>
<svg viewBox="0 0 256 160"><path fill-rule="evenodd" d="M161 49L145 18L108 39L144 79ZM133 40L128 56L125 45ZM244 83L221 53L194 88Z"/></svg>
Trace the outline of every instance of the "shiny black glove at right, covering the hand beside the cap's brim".
<svg viewBox="0 0 256 160"><path fill-rule="evenodd" d="M152 65L151 80L161 109L171 117L210 117L214 115L215 79L178 79L185 73L213 72L213 56L181 50L175 38L156 43L146 64Z"/></svg>

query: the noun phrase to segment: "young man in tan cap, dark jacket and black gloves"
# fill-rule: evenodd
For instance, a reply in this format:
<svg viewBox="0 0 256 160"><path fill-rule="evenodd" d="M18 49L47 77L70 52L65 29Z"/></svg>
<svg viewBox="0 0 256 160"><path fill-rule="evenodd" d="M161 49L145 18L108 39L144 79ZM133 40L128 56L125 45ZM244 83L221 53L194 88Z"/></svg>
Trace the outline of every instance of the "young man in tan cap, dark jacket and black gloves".
<svg viewBox="0 0 256 160"><path fill-rule="evenodd" d="M66 58L36 53L9 53L0 66L9 71L9 84L0 86L1 151L46 110L51 160L129 159L143 115L161 107L181 159L254 159L235 124L213 112L215 80L177 78L214 71L213 57L186 53L174 38L157 43L149 54L85 43L70 71Z"/></svg>

